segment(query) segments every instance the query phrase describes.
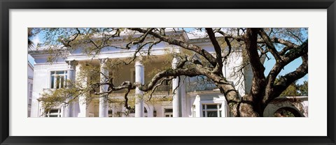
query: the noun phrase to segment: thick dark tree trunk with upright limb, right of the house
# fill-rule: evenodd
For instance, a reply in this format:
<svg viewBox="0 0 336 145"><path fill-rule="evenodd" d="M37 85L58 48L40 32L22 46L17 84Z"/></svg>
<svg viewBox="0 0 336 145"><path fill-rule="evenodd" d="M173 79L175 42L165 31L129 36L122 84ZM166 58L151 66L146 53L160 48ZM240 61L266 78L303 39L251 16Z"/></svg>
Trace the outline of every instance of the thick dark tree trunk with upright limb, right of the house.
<svg viewBox="0 0 336 145"><path fill-rule="evenodd" d="M260 56L258 54L258 31L259 29L247 29L244 40L245 49L248 54L248 59L251 62L251 68L253 70L251 93L242 98L239 98L237 91L232 85L222 85L221 90L228 100L228 105L230 106L230 111L232 112L233 116L262 116L264 110L263 108L265 108L262 107L261 103L262 98L265 95L265 68L260 62Z"/></svg>

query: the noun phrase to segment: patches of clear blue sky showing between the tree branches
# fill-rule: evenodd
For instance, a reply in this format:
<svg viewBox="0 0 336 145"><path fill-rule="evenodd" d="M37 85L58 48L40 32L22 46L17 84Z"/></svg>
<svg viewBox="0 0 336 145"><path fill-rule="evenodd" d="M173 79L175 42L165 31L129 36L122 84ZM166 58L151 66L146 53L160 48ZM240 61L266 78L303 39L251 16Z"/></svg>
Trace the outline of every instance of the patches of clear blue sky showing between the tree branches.
<svg viewBox="0 0 336 145"><path fill-rule="evenodd" d="M185 30L190 31L191 28L186 28ZM41 43L43 41L43 34L39 34L35 36L34 38L32 38L32 41L34 42L34 45L36 45L37 43ZM35 64L34 58L32 58L29 54L28 54L28 61L34 66ZM302 63L301 58L295 59L294 61L289 63L287 66L285 66L285 68L281 70L279 75L286 75L287 73L294 71L298 66L300 66L301 63ZM264 66L265 66L266 76L268 75L269 71L272 69L274 64L275 64L275 59L272 57L269 60L267 59L265 60ZM296 84L303 84L304 81L308 81L308 74L302 77L301 79L298 79Z"/></svg>

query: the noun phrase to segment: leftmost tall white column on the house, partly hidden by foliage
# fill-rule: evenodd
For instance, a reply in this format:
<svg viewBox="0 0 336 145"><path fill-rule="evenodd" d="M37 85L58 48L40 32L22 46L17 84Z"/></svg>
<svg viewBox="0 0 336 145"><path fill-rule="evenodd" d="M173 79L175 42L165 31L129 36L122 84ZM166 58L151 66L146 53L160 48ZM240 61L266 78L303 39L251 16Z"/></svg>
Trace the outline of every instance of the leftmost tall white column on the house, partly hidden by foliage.
<svg viewBox="0 0 336 145"><path fill-rule="evenodd" d="M75 83L76 81L76 65L77 61L66 61L68 63L68 72L67 77L68 80L71 81L71 83ZM72 87L71 84L66 84L66 87ZM69 98L71 100L72 97ZM69 104L65 107L65 117L73 117L73 102L69 102Z"/></svg>

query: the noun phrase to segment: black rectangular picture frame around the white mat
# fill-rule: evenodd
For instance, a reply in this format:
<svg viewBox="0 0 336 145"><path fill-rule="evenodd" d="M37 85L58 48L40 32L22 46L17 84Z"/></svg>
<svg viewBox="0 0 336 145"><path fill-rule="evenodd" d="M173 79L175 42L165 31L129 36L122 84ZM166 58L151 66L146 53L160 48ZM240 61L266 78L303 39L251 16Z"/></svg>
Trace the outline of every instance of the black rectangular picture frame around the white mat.
<svg viewBox="0 0 336 145"><path fill-rule="evenodd" d="M1 144L335 144L335 0L1 0L0 142ZM327 9L328 135L325 137L18 137L9 136L10 9ZM223 124L225 125L225 124ZM276 131L276 130L274 130Z"/></svg>

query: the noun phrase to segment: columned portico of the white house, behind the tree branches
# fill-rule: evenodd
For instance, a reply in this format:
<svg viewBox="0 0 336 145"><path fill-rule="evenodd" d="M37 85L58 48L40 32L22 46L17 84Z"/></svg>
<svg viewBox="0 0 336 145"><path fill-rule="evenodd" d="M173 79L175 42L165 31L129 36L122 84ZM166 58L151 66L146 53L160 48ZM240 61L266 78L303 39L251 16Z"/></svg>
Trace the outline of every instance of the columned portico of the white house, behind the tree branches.
<svg viewBox="0 0 336 145"><path fill-rule="evenodd" d="M108 61L112 60L113 58L106 58L106 59L94 59L92 60L72 60L72 61L66 61L67 68L66 68L66 78L71 80L72 82L83 82L83 78L79 78L80 71L85 65L92 65L99 67L100 74L99 75L99 82L104 83L107 81L106 77L111 75L112 70L109 70L109 67L106 65L108 64ZM141 61L141 59L134 61L134 63L131 63L127 66L121 66L120 70L114 71L116 73L116 79L114 79L113 83L115 85L120 85L125 80L130 80L132 83L140 83L145 84L145 81L149 81L148 78L151 78L150 75L148 75L151 71L159 69L160 59L158 59L155 63L144 63ZM172 62L174 63L174 62ZM146 66L147 64L147 66ZM145 71L146 70L146 71ZM132 73L133 72L133 73ZM131 75L128 75L131 74ZM134 75L133 75L134 74ZM147 74L147 75L146 75ZM146 80L147 78L147 80ZM85 81L87 79L85 78ZM85 82L84 81L84 82ZM181 81L180 84L177 81ZM179 87L177 85L179 84ZM84 83L83 86L86 86ZM71 87L68 85L67 87ZM177 89L176 89L177 87ZM175 91L174 91L175 89ZM99 92L106 92L109 91L109 85L104 84L99 88ZM174 92L173 92L174 91ZM117 115L111 115L111 114L119 114L118 112L127 112L127 109L123 106L119 106L122 109L113 109L116 105L111 105L111 102L108 101L109 98L112 99L120 99L123 100L123 96L125 95L125 91L116 91L111 93L109 96L106 96L106 94L102 93L99 95L99 99L93 100L92 102L85 102L85 95L82 95L78 98L78 100L74 100L73 102L64 105L62 107L62 110L60 112L62 113L62 116L64 117L89 117L89 116L97 116L97 117L109 117L109 116L117 116ZM130 115L134 114L135 117L151 117L151 116L157 116L160 109L156 109L155 104L152 102L147 102L148 100L148 94L146 98L144 97L146 94L139 90L139 88L135 89L134 93L129 94L129 101L132 101L132 98L134 98L134 112L131 112ZM165 96L165 98L162 98ZM187 116L186 115L186 84L183 82L183 77L179 79L176 77L172 81L172 84L167 82L160 86L157 90L157 92L154 93L154 98L152 100L155 100L156 98L162 98L163 101L169 100L169 96L174 96L172 99L172 102L168 102L169 105L172 105L173 110L177 110L176 112L179 112L177 116ZM176 99L175 99L176 98ZM121 101L123 102L123 101ZM157 102L155 102L157 103ZM167 101L165 102L167 103ZM132 105L132 102L130 103ZM111 107L113 106L113 107ZM98 109L94 109L98 107ZM113 111L114 110L114 111ZM146 111L145 111L146 110ZM176 113L175 112L175 113ZM185 113L183 113L185 112ZM97 115L96 115L97 114ZM163 113L165 114L165 112ZM121 114L118 116L125 116L125 114Z"/></svg>

